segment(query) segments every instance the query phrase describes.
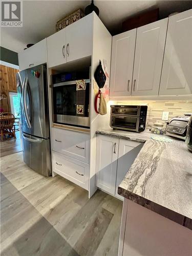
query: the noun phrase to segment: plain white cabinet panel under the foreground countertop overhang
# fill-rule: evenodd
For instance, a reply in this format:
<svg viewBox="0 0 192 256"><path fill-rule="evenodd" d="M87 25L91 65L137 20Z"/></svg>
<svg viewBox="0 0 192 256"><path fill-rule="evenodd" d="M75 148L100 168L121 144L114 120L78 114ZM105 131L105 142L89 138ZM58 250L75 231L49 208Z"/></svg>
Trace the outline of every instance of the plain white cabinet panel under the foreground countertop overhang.
<svg viewBox="0 0 192 256"><path fill-rule="evenodd" d="M118 256L191 256L192 231L124 199Z"/></svg>

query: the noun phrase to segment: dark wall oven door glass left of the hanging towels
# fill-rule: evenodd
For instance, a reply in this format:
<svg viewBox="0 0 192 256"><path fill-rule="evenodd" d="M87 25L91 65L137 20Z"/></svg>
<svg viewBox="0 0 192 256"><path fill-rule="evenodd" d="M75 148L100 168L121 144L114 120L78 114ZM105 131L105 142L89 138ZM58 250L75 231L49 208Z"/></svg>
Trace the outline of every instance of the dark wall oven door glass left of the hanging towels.
<svg viewBox="0 0 192 256"><path fill-rule="evenodd" d="M76 84L53 88L53 108L56 115L76 115Z"/></svg>

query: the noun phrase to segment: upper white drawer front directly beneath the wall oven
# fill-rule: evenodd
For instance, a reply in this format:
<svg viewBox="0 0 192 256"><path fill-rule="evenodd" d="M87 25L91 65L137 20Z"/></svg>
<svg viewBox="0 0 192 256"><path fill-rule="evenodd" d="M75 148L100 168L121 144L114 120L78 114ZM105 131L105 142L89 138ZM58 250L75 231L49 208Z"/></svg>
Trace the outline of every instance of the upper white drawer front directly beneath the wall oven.
<svg viewBox="0 0 192 256"><path fill-rule="evenodd" d="M89 142L87 134L52 128L52 149L58 153L89 163Z"/></svg>

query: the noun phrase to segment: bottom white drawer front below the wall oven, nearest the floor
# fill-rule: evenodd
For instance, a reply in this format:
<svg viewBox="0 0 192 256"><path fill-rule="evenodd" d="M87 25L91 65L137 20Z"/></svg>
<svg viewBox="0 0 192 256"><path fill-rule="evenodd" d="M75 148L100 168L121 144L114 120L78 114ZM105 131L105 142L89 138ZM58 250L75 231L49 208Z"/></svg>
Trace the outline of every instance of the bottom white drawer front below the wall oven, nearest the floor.
<svg viewBox="0 0 192 256"><path fill-rule="evenodd" d="M56 152L52 152L52 154L53 172L88 190L89 164L82 163Z"/></svg>

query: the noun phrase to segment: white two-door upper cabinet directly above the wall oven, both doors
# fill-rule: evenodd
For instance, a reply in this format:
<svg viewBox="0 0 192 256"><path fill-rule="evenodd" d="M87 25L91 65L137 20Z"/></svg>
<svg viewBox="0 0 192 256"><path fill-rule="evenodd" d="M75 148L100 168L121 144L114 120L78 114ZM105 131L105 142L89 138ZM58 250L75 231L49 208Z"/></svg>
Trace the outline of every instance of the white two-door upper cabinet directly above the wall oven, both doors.
<svg viewBox="0 0 192 256"><path fill-rule="evenodd" d="M92 55L93 14L83 17L47 38L48 67Z"/></svg>

